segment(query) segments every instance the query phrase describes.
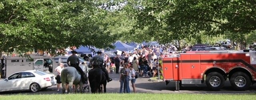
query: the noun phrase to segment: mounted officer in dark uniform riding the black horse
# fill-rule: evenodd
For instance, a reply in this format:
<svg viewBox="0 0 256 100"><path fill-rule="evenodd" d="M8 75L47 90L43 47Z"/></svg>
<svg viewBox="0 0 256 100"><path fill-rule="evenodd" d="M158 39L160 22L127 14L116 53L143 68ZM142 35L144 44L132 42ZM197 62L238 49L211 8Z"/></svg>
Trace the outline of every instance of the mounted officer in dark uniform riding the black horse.
<svg viewBox="0 0 256 100"><path fill-rule="evenodd" d="M104 58L102 57L101 54L102 54L102 51L101 51L101 50L98 50L97 55L94 56L94 57L90 60L90 63L92 64L93 67L99 67L99 68L101 68L102 71L104 71L104 73L106 74L107 81L110 82L110 81L112 81L112 79L109 78L107 69L103 67Z"/></svg>

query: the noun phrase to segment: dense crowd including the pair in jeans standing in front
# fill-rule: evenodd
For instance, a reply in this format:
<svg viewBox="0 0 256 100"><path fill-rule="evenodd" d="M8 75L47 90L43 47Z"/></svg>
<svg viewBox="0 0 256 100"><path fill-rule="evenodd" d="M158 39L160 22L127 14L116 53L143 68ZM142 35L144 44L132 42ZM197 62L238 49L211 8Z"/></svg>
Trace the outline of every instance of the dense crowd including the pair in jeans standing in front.
<svg viewBox="0 0 256 100"><path fill-rule="evenodd" d="M135 82L140 77L156 77L158 67L158 57L167 52L167 48L162 46L145 46L135 49L133 52L122 52L115 57L104 55L106 69L108 73L120 74L120 93L130 93L129 81L132 84L133 92L136 92ZM121 69L119 70L119 68Z"/></svg>

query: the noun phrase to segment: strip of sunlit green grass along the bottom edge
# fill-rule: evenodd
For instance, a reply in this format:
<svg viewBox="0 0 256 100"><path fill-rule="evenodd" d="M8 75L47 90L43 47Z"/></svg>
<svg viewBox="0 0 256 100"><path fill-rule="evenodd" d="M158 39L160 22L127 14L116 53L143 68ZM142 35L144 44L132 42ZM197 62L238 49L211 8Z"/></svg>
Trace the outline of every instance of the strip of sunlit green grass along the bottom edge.
<svg viewBox="0 0 256 100"><path fill-rule="evenodd" d="M255 100L256 94L39 94L0 95L0 100Z"/></svg>

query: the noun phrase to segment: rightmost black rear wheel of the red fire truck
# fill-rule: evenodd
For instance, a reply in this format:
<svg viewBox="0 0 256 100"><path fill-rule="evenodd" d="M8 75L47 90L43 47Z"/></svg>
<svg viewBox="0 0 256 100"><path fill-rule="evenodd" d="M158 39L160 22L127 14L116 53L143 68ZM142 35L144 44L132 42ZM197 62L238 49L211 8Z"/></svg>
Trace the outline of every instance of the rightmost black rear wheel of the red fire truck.
<svg viewBox="0 0 256 100"><path fill-rule="evenodd" d="M246 90L250 87L250 77L244 72L236 72L230 78L230 84L234 90Z"/></svg>

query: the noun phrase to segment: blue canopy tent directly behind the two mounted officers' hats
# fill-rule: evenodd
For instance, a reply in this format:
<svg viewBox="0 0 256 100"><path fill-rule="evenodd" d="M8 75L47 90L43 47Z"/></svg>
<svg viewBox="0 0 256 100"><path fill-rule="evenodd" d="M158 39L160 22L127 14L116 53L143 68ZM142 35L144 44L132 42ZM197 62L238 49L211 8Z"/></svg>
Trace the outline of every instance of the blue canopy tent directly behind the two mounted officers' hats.
<svg viewBox="0 0 256 100"><path fill-rule="evenodd" d="M94 48L94 47L92 47L92 48L93 48L94 50L90 49L90 48L87 47L87 46L80 46L78 49L75 49L75 50L76 50L76 52L77 52L78 54L91 54L92 51L95 51L95 52L98 51L97 48ZM68 54L72 54L71 51L68 51Z"/></svg>

